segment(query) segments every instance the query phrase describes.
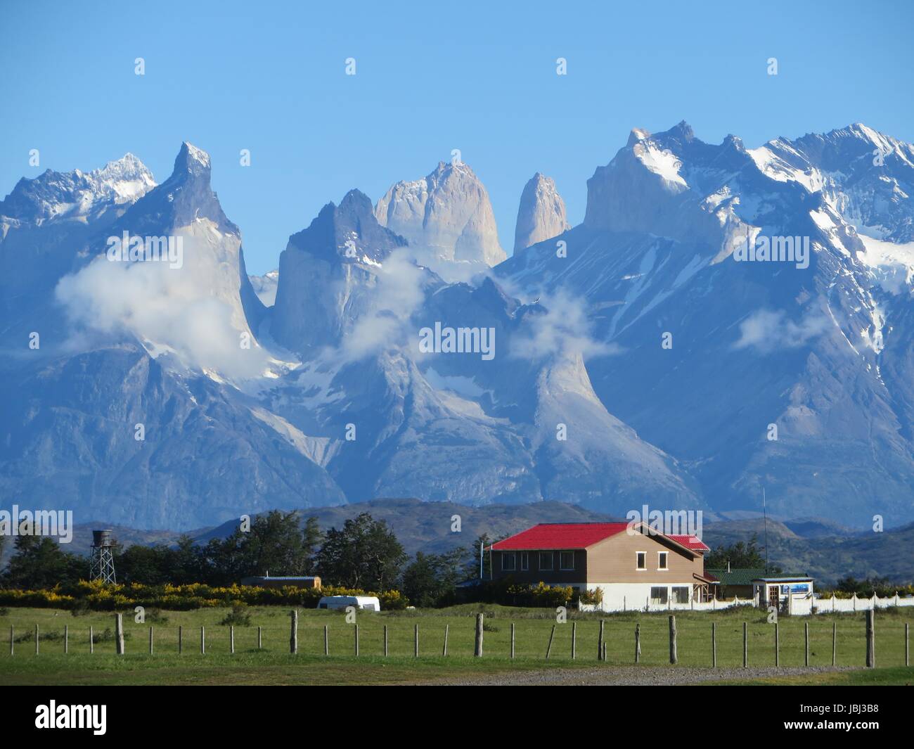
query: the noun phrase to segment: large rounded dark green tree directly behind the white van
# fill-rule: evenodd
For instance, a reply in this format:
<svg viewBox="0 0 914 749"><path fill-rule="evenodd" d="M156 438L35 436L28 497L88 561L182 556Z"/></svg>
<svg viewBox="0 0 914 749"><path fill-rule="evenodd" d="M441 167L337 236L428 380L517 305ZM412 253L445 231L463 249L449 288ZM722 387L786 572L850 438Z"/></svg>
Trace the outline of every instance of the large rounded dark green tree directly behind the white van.
<svg viewBox="0 0 914 749"><path fill-rule="evenodd" d="M367 512L327 531L314 562L325 581L361 590L388 590L407 555L384 520Z"/></svg>

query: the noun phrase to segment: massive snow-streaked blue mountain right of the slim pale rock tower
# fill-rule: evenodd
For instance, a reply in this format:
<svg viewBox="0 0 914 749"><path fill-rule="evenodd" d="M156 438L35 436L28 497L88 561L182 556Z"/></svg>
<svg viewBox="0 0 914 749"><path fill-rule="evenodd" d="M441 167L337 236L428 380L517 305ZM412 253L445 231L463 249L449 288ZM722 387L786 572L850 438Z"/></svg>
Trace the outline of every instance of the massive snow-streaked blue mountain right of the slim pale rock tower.
<svg viewBox="0 0 914 749"><path fill-rule="evenodd" d="M857 168L862 184L873 143L891 141L868 136L842 150L843 169L820 163L833 175ZM899 171L904 160L887 157ZM754 508L765 484L770 509L787 514L827 506L858 522L909 517L914 463L907 395L898 398L909 389L900 385L909 275L889 277L888 298L871 267L906 253L882 248L874 259L834 193L815 189L824 181L783 164L734 136L705 144L685 123L633 131L590 179L584 224L563 235L567 258L543 242L496 273L526 294L565 289L588 301L594 336L623 351L587 359L600 401L689 466L713 507ZM909 209L898 197L893 236ZM808 263L738 262L747 237L808 238Z"/></svg>

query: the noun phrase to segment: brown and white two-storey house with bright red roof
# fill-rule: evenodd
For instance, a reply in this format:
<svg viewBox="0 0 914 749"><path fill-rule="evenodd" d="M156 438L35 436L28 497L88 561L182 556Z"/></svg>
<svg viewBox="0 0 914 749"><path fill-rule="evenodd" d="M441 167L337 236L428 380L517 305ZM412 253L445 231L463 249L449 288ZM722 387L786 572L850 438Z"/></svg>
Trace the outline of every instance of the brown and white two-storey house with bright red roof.
<svg viewBox="0 0 914 749"><path fill-rule="evenodd" d="M688 605L714 596L708 551L696 536L666 535L643 522L540 523L492 544L492 577L600 588L603 611Z"/></svg>

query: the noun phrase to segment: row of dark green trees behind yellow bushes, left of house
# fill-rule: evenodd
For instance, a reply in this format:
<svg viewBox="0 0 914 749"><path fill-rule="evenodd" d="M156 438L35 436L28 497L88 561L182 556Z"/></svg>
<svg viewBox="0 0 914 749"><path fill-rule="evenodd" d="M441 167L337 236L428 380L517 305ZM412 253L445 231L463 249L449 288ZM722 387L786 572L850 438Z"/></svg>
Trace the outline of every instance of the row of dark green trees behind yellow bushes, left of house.
<svg viewBox="0 0 914 749"><path fill-rule="evenodd" d="M300 524L297 513L272 510L225 539L199 543L189 536L173 545L114 547L118 583L230 585L248 576L319 575L325 585L366 591L397 589L413 605L451 603L456 586L479 576L479 544L441 554L418 551L410 559L385 520L367 512L325 533L316 518ZM485 560L486 565L488 559ZM488 568L486 567L486 574ZM64 551L47 536L16 536L0 587L21 590L68 585L89 577L89 559Z"/></svg>

